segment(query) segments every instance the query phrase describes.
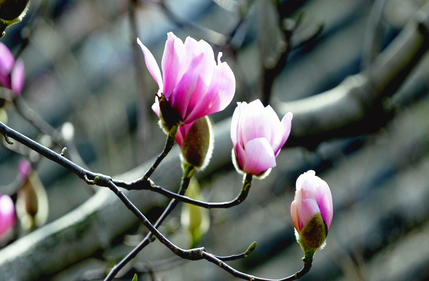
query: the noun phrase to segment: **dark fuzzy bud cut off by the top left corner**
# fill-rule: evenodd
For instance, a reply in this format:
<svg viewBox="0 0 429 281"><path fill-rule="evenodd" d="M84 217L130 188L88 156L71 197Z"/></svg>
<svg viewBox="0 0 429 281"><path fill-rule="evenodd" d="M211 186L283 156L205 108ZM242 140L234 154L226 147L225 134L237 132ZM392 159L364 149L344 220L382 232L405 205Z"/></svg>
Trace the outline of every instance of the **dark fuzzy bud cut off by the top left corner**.
<svg viewBox="0 0 429 281"><path fill-rule="evenodd" d="M0 0L0 37L7 27L24 18L28 5L29 0Z"/></svg>

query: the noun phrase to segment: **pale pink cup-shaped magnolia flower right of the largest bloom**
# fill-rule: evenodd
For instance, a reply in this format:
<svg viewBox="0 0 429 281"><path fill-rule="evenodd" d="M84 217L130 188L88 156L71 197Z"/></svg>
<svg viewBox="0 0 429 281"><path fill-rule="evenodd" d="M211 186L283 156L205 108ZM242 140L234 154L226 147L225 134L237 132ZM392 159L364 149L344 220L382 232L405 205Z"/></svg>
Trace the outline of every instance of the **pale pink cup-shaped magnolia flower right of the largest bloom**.
<svg viewBox="0 0 429 281"><path fill-rule="evenodd" d="M276 167L276 157L290 134L292 113L280 121L260 100L237 103L231 123L233 162L238 170L259 175Z"/></svg>

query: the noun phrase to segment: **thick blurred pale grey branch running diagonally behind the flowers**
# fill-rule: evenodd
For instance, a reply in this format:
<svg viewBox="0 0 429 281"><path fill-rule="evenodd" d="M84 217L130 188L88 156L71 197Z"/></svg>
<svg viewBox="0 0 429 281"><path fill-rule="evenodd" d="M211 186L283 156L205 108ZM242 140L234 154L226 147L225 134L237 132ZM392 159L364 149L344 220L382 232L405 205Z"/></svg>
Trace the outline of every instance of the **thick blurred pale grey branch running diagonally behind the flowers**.
<svg viewBox="0 0 429 281"><path fill-rule="evenodd" d="M410 22L376 59L370 74L361 73L352 76L331 91L302 101L283 104L280 107L280 113L289 109L294 113L293 129L286 145L311 147L323 139L343 136L344 133L339 130L342 126L353 127L365 120L366 113L381 110L381 107L375 104L383 95L390 95L395 91L416 65L420 56L428 50L427 28L424 24L428 12L429 3L421 9L424 20ZM229 140L230 122L231 120L228 119L215 127L216 145L213 158L201 176L230 163L232 149ZM365 132L363 127L355 126L355 129L348 133ZM169 176L165 177L160 173L154 173L151 176L152 180L162 186L171 188L180 178L180 161L177 156L178 151L175 152L173 157L169 157L158 167L160 170L168 170ZM49 159L55 161L61 156L50 157L52 159ZM128 181L138 178L151 163L153 162L117 178ZM76 168L71 163L67 165ZM90 172L87 174L88 180L94 180L97 175L100 174ZM110 181L110 178L103 179ZM137 208L142 210L149 203L153 204L160 200L153 193L148 195L143 192L126 191L125 194L131 201L136 202ZM0 279L34 280L54 274L91 256L100 248L108 247L115 237L135 222L135 218L124 211L123 204L113 193L100 189L76 210L2 249ZM203 255L205 255L204 252ZM212 262L216 260L212 259Z"/></svg>

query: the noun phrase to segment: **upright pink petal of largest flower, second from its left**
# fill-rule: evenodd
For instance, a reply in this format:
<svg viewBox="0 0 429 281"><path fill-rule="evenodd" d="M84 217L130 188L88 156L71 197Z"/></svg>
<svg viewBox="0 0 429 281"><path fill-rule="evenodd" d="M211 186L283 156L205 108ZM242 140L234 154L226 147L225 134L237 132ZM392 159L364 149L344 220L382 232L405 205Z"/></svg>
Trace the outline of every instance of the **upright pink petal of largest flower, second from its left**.
<svg viewBox="0 0 429 281"><path fill-rule="evenodd" d="M177 82L182 78L182 73L186 67L184 61L186 61L185 45L173 32L169 32L161 61L163 94L167 100L173 93Z"/></svg>

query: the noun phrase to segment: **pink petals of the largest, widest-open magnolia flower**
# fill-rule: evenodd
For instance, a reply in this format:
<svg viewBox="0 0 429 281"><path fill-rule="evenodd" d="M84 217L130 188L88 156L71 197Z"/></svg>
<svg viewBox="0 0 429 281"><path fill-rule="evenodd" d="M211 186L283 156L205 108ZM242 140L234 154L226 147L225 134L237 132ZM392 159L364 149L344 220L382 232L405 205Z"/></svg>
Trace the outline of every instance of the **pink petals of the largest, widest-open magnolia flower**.
<svg viewBox="0 0 429 281"><path fill-rule="evenodd" d="M165 96L184 124L222 111L231 103L236 90L234 73L226 62L220 61L221 53L216 65L207 42L188 37L184 44L169 32L161 61L162 77L153 55L140 39L137 42L147 69L159 86L159 93ZM158 97L152 109L159 112Z"/></svg>

